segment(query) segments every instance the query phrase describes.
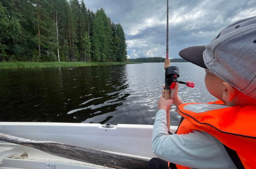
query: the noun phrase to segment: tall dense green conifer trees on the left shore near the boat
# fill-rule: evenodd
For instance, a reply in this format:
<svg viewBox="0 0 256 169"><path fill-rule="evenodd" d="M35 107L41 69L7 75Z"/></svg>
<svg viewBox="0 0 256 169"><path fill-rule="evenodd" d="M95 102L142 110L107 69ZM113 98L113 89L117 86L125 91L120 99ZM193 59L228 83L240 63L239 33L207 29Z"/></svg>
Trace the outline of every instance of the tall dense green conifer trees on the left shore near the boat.
<svg viewBox="0 0 256 169"><path fill-rule="evenodd" d="M120 24L78 0L1 0L0 61L125 61Z"/></svg>

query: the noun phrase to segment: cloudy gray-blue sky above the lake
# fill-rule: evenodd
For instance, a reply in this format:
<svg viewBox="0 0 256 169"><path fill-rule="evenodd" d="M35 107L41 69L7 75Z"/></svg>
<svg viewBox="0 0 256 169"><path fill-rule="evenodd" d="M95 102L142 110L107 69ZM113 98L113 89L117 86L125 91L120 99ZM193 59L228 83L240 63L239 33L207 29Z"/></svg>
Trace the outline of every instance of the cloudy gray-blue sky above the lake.
<svg viewBox="0 0 256 169"><path fill-rule="evenodd" d="M166 0L82 0L96 12L103 8L120 23L128 58L166 57ZM255 0L169 0L169 58L206 45L239 19L256 15Z"/></svg>

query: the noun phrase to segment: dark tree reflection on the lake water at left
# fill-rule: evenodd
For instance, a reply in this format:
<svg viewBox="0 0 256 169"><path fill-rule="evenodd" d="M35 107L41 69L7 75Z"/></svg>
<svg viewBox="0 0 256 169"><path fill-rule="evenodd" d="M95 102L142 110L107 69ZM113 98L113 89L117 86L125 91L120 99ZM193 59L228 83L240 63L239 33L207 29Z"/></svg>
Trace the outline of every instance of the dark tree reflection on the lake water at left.
<svg viewBox="0 0 256 169"><path fill-rule="evenodd" d="M0 78L1 121L105 122L130 95L126 66L2 70Z"/></svg>

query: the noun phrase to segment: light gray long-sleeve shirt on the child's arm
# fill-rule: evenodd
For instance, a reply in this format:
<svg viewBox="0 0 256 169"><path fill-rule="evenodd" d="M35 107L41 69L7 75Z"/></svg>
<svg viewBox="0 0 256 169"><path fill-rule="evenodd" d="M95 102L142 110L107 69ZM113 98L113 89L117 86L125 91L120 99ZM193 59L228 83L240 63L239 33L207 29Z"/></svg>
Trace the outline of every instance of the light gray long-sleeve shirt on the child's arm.
<svg viewBox="0 0 256 169"><path fill-rule="evenodd" d="M208 133L169 135L163 109L156 113L152 150L163 160L191 168L236 168L224 145Z"/></svg>

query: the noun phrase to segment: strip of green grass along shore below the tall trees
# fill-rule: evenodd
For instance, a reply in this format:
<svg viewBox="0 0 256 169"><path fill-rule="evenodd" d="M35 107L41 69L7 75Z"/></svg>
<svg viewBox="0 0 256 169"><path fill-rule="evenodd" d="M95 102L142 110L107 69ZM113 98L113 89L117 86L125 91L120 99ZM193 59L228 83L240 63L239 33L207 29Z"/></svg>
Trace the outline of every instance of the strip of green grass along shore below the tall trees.
<svg viewBox="0 0 256 169"><path fill-rule="evenodd" d="M78 67L78 66L108 66L137 64L136 62L0 62L0 69L18 68L55 68L55 67Z"/></svg>

